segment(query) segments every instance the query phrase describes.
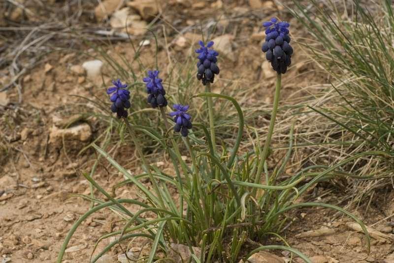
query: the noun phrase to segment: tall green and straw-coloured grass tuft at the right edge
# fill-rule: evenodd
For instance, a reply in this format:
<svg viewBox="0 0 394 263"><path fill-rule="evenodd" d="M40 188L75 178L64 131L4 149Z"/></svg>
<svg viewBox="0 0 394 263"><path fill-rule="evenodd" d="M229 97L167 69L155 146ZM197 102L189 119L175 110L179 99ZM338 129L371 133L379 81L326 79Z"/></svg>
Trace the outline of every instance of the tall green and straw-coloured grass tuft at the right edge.
<svg viewBox="0 0 394 263"><path fill-rule="evenodd" d="M329 74L332 87L327 90L326 103L311 109L330 121L324 136L332 139L331 149L337 156L333 161L360 154L362 157L348 171L374 179L355 181L349 197L359 202L365 196L372 198L375 189L392 183L392 2L306 2L308 7L295 0L292 12L311 36L306 40L305 52Z"/></svg>

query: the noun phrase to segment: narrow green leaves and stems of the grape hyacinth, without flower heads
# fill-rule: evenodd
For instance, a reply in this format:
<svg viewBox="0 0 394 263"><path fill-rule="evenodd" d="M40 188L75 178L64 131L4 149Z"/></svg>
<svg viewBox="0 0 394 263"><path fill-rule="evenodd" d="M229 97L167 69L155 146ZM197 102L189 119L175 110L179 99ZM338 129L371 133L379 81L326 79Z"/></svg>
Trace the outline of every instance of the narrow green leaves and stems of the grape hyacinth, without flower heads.
<svg viewBox="0 0 394 263"><path fill-rule="evenodd" d="M131 91L141 85L140 79L142 78L137 77L138 75L132 67L125 69L120 64L114 66L118 67L117 72L120 77L131 80L131 83L133 83ZM144 67L143 69L145 71ZM144 72L139 74L143 75ZM186 83L190 82L186 81ZM182 85L179 86L182 87ZM185 85L185 87L189 86ZM314 206L334 209L345 213L358 222L367 237L367 250L369 252L368 232L362 222L353 214L335 205L313 202L296 203L296 200L316 183L337 176L347 176L340 171L340 168L359 158L358 155L335 164L304 166L292 176L284 177L282 175L293 153L293 124L289 128L290 134L286 155L278 164L274 165L273 169L268 169L268 156L272 153L270 140L274 133L275 117L279 108L280 89L281 74L278 73L270 125L263 147L260 145L257 132L255 133L256 136L250 136L249 140L244 138L244 112L237 100L230 95L211 92L201 93L196 89L197 94L191 96L191 94L185 95L189 94L188 91L183 90L182 92L178 89L179 96L172 95L174 96L172 97L171 94L173 93L171 91L173 90L171 88L167 89L166 96L171 96L170 101L178 102L181 100L181 102L185 102L187 98L187 101L191 102L192 108L195 105L203 104L205 100L216 99L212 103L206 103L205 108L201 107L205 116L209 116L209 129L207 128L208 124L194 122L193 131L190 131L188 136L183 133L184 137L170 132L171 127L165 115L165 108L160 108L159 112L153 114L150 112L149 115L145 116L142 114L143 107L145 107L142 106L142 103L145 103L145 98L132 96L133 108L137 109L138 114L131 114L128 118L123 117L122 120L108 116L111 125L108 125L108 129L104 133L105 140L101 146L96 144L92 144L92 146L97 150L99 156L104 157L127 178L125 181L117 183L114 188L125 185L136 186L142 201L115 199L105 191L93 177L99 161L95 163L90 174L81 171L82 175L91 183L92 189L93 187L98 189L109 201L105 202L93 195L78 195L91 201L92 208L72 226L61 248L57 262L62 261L67 244L81 223L90 215L104 208L110 208L116 212L124 225L122 230L104 234L99 238L98 242L109 237L115 237L115 241L109 243L100 251L92 259L92 262L96 262L114 246L120 246L123 250L125 241L132 240L135 237L143 237L151 240L149 256L140 259L148 263L167 259L170 243L180 243L188 246L192 260L196 263L215 261L235 263L240 258L248 259L260 250L272 249L288 250L305 262L310 263L311 261L305 255L291 248L279 234L286 225L287 211ZM207 88L207 91L209 91L209 88ZM139 96L139 92L137 88L135 94ZM134 101L136 102L134 103ZM236 113L236 118L230 121L231 126L226 126L226 123L217 125L214 115L208 114L213 112L214 103L221 103L222 101L230 105ZM103 102L98 107L107 111L104 105ZM192 111L193 113L197 115L197 111ZM151 118L160 119L160 116L162 117L161 122L149 120ZM205 123L208 123L208 121ZM150 126L146 124L150 124ZM125 141L133 142L132 146L135 147L137 156L141 161L143 173L131 175L105 150L111 129L114 126L122 131L122 137L125 138ZM231 129L234 127L235 129L232 131ZM216 139L223 139L223 134L217 133L218 129L227 129L226 133L235 134L235 136L230 137L233 139L227 141L227 144L214 144L212 136L216 137L219 134L220 136ZM142 137L142 134L145 137ZM145 140L150 143L153 142L156 144L156 148L165 151L172 164L172 172L164 172L159 167L148 163L142 150L145 147ZM218 141L216 140L216 142ZM245 141L249 145L253 145L253 149L241 151L241 143ZM182 151L183 149L186 149L187 153ZM162 154L164 155L164 152ZM187 160L182 158L185 154L188 155ZM148 189L147 185L143 183L146 179L153 185L152 190ZM172 189L176 189L176 195L170 194ZM132 213L125 205L134 205L138 207L138 211ZM146 218L146 214L149 214L149 218ZM151 216L152 214L154 216ZM279 237L284 245L269 244L270 236ZM195 254L192 248L194 246L201 249L200 255ZM246 248L248 250L245 250ZM158 258L157 251L159 250L164 252L164 258Z"/></svg>

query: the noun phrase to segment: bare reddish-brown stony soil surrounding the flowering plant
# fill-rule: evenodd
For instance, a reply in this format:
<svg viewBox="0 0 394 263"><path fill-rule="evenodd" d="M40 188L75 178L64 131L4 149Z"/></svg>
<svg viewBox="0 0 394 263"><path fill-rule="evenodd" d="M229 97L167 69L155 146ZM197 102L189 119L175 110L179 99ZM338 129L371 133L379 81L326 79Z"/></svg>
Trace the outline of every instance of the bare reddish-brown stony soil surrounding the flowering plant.
<svg viewBox="0 0 394 263"><path fill-rule="evenodd" d="M97 96L104 98L104 87L116 74L92 43L80 41L78 35L93 41L106 54L132 59L136 52L130 45L129 33L131 41L141 47L141 60L153 65L154 39L144 39L149 35L144 28L152 23L158 35L159 64L165 68L168 57L182 63L182 59L193 54L201 27L215 26L212 38L225 57L220 83L230 80L236 84L242 80L242 87L256 87L254 97L241 105L247 108L261 103L261 98L264 103L272 102L275 75L267 69L269 64L262 62L261 22L274 14L290 19L292 27L299 28L286 9L271 0L168 0L158 1L159 4L150 0L102 0L100 4L93 0L47 2L6 1L0 7L2 263L55 262L71 225L89 209L89 202L69 195L90 194L88 182L78 171L90 171L93 166L96 155L85 147L99 137L105 122L99 117L81 115L98 110L81 96L93 98L99 91L102 94ZM57 17L56 9L64 17L62 14ZM51 12L43 18L48 10ZM299 97L302 94L298 90L308 85L325 84L324 75L308 73L306 80L309 61L298 50L294 59L297 62L285 77L283 100L293 99L293 94ZM312 91L306 91L309 92ZM133 150L126 146L122 150L131 157L120 161L128 169L137 169L130 162ZM103 162L95 179L110 190L123 177ZM316 186L305 199L335 203L336 195L340 194ZM116 195L138 198L135 189L126 187L118 189ZM394 206L390 202L379 205L380 201L393 200L393 195L384 192L382 196L368 206L371 207L368 212L362 205L355 211L375 233L369 255L365 238L356 232L358 229L349 219L327 209L291 213L293 224L286 230L286 238L314 263L394 263L391 221ZM99 236L119 229L121 224L117 220L114 213L103 211L85 221L71 239L64 262L89 262ZM107 241L101 242L99 248L105 244ZM143 240L135 240L131 247L133 255L149 251L149 243ZM253 262L282 263L290 257L285 252L275 254L258 254ZM102 263L127 262L119 248L106 257L107 261Z"/></svg>

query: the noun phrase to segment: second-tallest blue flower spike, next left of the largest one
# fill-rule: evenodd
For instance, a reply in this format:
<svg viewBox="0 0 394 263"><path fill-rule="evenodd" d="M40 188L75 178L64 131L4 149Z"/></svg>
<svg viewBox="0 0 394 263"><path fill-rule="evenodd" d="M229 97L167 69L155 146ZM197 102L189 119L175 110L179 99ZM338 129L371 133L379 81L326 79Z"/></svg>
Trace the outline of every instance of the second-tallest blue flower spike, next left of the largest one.
<svg viewBox="0 0 394 263"><path fill-rule="evenodd" d="M214 49L210 49L213 46L213 41L210 41L204 45L201 40L198 42L200 45L199 49L196 49L199 61L197 62L197 80L202 82L202 85L207 83L213 83L215 75L219 74L220 70L217 65L219 53Z"/></svg>

